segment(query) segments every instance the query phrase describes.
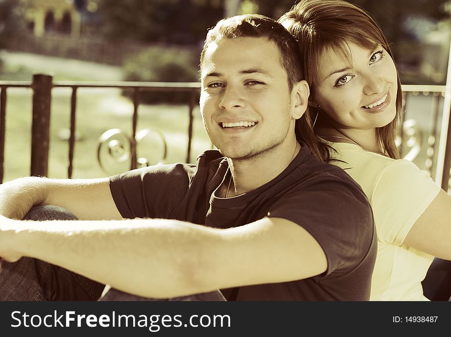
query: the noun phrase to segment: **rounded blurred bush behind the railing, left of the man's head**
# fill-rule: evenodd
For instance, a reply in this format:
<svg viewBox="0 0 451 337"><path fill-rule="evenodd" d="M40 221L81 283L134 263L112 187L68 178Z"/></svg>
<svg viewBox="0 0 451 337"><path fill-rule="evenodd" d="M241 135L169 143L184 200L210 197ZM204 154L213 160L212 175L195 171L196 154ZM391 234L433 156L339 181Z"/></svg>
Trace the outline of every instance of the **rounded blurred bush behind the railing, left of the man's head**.
<svg viewBox="0 0 451 337"><path fill-rule="evenodd" d="M198 53L188 48L150 47L127 58L124 80L138 82L197 82ZM124 94L131 95L125 90ZM188 93L149 92L140 94L143 103L187 103Z"/></svg>

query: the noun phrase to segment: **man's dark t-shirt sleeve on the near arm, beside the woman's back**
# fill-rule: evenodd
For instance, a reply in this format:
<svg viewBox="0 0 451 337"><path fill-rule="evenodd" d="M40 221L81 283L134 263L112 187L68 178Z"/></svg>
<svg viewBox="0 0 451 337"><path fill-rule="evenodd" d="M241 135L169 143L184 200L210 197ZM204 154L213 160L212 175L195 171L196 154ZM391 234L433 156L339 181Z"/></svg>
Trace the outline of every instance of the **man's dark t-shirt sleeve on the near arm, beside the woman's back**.
<svg viewBox="0 0 451 337"><path fill-rule="evenodd" d="M346 174L312 176L270 209L302 226L319 243L327 259L325 275L341 275L361 263L374 247L373 214L360 187Z"/></svg>

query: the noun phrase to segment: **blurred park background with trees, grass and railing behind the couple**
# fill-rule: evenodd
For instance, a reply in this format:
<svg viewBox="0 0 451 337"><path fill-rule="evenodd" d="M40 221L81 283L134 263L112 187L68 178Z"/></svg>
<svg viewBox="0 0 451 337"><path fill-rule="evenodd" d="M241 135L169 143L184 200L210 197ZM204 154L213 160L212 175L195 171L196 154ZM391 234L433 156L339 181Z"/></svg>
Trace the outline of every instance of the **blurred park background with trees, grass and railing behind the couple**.
<svg viewBox="0 0 451 337"><path fill-rule="evenodd" d="M392 43L405 89L399 144L403 154L434 177L443 136L451 1L350 2L373 14ZM37 73L52 76L45 175L97 177L156 163L194 163L200 152L212 148L199 115L197 91L141 88L136 98L132 86L119 82L197 83L208 28L223 17L243 13L277 19L293 4L294 0L0 0L0 85L7 97L0 121L5 138L0 144L0 179L30 174L31 81ZM23 86L7 86L13 82ZM99 87L74 86L83 83ZM0 134L0 143L1 138Z"/></svg>

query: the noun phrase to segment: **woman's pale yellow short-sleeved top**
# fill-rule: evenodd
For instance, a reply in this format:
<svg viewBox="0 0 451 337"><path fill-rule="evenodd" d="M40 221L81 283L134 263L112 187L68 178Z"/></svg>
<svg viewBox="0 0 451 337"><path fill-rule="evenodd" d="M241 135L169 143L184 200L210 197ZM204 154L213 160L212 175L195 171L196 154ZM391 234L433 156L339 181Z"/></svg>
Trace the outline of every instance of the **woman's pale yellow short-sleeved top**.
<svg viewBox="0 0 451 337"><path fill-rule="evenodd" d="M428 301L421 281L434 256L403 245L414 223L440 191L426 171L347 143L331 143L332 161L363 189L373 209L378 248L370 301Z"/></svg>

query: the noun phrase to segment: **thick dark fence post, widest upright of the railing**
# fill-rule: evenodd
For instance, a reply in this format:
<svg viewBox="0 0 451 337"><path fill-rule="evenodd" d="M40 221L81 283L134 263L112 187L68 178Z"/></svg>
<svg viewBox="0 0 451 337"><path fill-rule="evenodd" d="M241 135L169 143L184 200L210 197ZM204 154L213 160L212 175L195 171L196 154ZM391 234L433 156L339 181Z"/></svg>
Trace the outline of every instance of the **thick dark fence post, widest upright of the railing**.
<svg viewBox="0 0 451 337"><path fill-rule="evenodd" d="M50 143L50 104L52 76L33 75L31 125L31 175L47 176Z"/></svg>

